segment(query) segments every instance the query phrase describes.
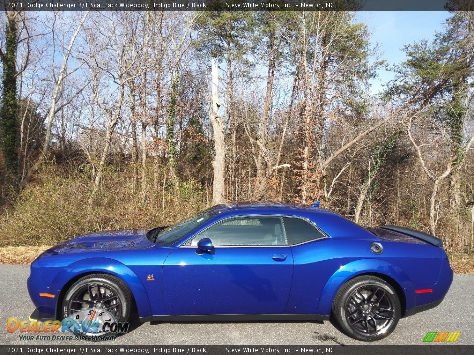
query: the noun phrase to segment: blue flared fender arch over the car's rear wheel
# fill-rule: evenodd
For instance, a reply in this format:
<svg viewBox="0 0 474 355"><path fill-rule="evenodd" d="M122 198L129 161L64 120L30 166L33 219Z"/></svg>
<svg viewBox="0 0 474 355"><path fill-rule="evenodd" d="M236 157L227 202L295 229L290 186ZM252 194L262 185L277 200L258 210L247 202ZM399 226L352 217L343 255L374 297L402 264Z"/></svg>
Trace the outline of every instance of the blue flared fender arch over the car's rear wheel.
<svg viewBox="0 0 474 355"><path fill-rule="evenodd" d="M363 274L381 274L394 279L404 293L406 309L415 306L415 293L407 292L407 290L413 289L414 285L400 267L385 260L360 259L341 266L332 274L321 292L317 313L330 315L332 302L341 286L348 280Z"/></svg>

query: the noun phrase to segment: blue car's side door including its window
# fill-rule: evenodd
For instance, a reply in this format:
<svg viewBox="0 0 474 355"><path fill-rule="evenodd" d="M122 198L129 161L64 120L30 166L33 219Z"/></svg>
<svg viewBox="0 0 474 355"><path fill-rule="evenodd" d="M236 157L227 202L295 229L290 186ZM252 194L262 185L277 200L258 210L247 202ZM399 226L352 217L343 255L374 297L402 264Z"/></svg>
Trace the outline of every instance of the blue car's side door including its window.
<svg viewBox="0 0 474 355"><path fill-rule="evenodd" d="M197 249L210 238L213 252ZM168 315L284 313L293 256L281 218L232 217L173 250L163 265Z"/></svg>

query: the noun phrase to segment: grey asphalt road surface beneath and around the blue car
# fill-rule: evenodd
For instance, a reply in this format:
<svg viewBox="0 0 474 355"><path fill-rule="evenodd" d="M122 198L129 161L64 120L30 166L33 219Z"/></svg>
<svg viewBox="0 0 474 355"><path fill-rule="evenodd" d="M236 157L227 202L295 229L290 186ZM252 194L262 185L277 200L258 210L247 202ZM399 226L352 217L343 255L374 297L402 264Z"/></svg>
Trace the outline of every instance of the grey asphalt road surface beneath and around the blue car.
<svg viewBox="0 0 474 355"><path fill-rule="evenodd" d="M0 344L40 345L7 333L8 317L28 320L34 309L26 289L28 266L0 265ZM422 344L428 331L460 331L457 344L474 344L474 275L456 274L443 303L401 319L395 331L376 344ZM55 342L55 344L60 344ZM68 342L67 344L74 344ZM78 343L79 344L79 343ZM103 342L101 344L107 344ZM109 344L363 344L340 333L329 321L143 323ZM365 343L367 344L367 343ZM373 343L368 343L373 344Z"/></svg>

